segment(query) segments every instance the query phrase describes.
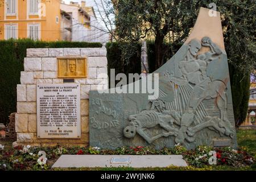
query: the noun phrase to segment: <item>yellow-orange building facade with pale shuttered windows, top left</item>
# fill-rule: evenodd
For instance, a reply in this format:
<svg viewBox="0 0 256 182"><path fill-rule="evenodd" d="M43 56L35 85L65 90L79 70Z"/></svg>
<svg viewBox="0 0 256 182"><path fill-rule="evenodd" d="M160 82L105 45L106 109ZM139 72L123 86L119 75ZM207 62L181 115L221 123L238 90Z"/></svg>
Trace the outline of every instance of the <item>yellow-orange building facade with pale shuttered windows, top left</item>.
<svg viewBox="0 0 256 182"><path fill-rule="evenodd" d="M0 0L0 40L61 40L59 0Z"/></svg>

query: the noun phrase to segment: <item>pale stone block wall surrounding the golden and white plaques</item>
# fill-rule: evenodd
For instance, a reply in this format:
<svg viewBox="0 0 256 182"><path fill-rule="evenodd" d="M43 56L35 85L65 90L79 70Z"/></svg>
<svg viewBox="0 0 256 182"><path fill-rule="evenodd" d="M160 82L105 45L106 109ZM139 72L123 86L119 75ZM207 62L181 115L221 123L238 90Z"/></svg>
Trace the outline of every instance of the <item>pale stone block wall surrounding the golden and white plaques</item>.
<svg viewBox="0 0 256 182"><path fill-rule="evenodd" d="M81 86L81 138L38 139L36 135L36 84L63 84L57 78L57 57L86 56L87 77L74 78ZM27 49L24 71L17 85L17 113L15 114L16 143L32 146L55 146L57 144L87 146L89 144L89 90L98 86L108 88L105 48L37 48Z"/></svg>

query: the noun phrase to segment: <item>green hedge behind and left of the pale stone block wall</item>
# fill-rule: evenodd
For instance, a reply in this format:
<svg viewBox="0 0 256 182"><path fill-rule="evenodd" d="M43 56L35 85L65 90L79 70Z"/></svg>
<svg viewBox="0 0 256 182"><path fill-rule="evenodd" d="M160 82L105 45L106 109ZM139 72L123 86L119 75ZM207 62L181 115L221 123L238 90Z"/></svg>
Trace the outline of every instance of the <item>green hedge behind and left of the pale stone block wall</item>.
<svg viewBox="0 0 256 182"><path fill-rule="evenodd" d="M0 40L0 123L7 123L10 113L16 111L16 85L27 48L102 47L101 43L42 42L30 39Z"/></svg>

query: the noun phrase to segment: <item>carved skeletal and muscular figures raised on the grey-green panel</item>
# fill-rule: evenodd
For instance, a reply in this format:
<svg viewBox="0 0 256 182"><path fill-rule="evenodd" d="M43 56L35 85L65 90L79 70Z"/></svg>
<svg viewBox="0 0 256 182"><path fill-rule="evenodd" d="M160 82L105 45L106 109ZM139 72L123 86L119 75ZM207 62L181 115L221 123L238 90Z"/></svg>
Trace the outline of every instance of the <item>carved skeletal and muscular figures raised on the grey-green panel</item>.
<svg viewBox="0 0 256 182"><path fill-rule="evenodd" d="M202 47L208 47L209 51L198 54ZM176 143L183 144L185 140L193 142L197 133L209 129L220 136L233 138L235 131L227 116L227 83L207 75L209 63L218 59L221 54L221 49L208 37L204 37L201 42L191 40L186 55L178 62L177 67L182 76L169 71L162 74L164 80L169 82L170 90L175 90L174 100L170 100L168 93L160 88L162 97L150 101L149 110L130 115L123 135L133 138L138 134L148 143L161 137L173 136ZM203 101L210 99L215 100L220 117L207 113ZM155 136L148 135L146 130L157 125L162 127L163 132Z"/></svg>

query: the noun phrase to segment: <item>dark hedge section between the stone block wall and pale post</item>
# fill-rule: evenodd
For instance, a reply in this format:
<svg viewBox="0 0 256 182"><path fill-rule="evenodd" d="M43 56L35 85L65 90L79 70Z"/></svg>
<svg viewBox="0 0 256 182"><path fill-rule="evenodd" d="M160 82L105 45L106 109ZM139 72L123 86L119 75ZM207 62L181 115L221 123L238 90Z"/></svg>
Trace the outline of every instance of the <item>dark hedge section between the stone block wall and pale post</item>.
<svg viewBox="0 0 256 182"><path fill-rule="evenodd" d="M122 43L126 44L126 43ZM107 57L108 57L108 75L110 87L110 69L115 69L115 75L118 73L125 73L128 78L129 73L141 74L141 44L137 43L133 54L129 56L129 62L122 61L121 43L112 42L106 44ZM119 81L115 81L117 84Z"/></svg>

